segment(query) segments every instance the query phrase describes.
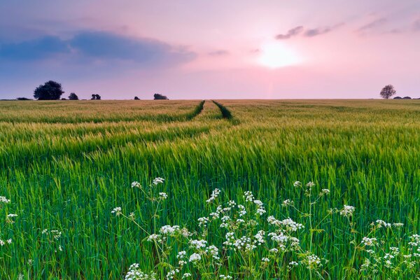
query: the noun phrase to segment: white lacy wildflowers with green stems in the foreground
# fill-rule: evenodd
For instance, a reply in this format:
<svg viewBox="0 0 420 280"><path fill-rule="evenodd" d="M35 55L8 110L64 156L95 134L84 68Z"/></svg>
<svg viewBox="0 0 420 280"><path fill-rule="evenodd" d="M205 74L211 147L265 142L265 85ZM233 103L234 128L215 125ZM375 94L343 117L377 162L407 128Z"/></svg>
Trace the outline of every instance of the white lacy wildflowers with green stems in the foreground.
<svg viewBox="0 0 420 280"><path fill-rule="evenodd" d="M163 181L157 178L153 185L157 186ZM160 277L166 275L165 279L234 279L234 276L239 275L241 279L243 275L247 275L249 278L245 279L283 279L292 271L298 270L300 273L307 271L308 274L322 278L321 269L328 264L328 260L318 256L325 256L323 248L312 243L314 232L323 231L315 228L313 221L316 220L316 227L330 227L337 219L329 217L338 213L349 218L350 226L339 230L349 230L349 236L353 236L350 244L353 244L354 252L348 263L348 267L351 267L349 273L358 271L367 278L378 278L377 275L387 275L386 278L390 278L389 275L405 275L396 274L401 268L405 272L420 269L420 235L410 236L409 242L406 245L399 244L400 246L390 246L391 241L379 235L384 229L401 228L402 223L377 220L372 223L371 231L367 235L359 237L363 230L356 230L356 223L350 219L356 211L355 207L344 204L341 209L328 211L325 217L314 217L316 203L324 203L325 200L321 200L321 197L329 195L330 190L316 188L312 182L302 184L296 181L294 186L301 188L304 191L303 197L309 200L306 209L297 209L293 200L286 199L281 204L283 207L290 207L286 209L287 215L276 213L279 218L273 215L266 217L265 204L255 199L251 191L244 192L240 197L242 200L223 202L218 200L221 190L215 189L206 200L209 214L197 218L197 232L179 225L163 225L158 232L148 234L146 240L151 242L151 246L155 246L154 250L158 255L155 262L162 263ZM158 194L161 200L167 198L166 193ZM152 195L151 201L158 201ZM293 216L294 212L299 215ZM124 216L120 207L113 209L112 213L135 220L134 214L130 217ZM136 224L140 226L139 223ZM363 262L357 263L353 261L355 259ZM158 266L155 269L156 267ZM387 274L387 271L391 274ZM138 264L133 264L125 279L155 279L157 275L153 272L146 274L139 269ZM351 275L354 276L346 274L349 279Z"/></svg>

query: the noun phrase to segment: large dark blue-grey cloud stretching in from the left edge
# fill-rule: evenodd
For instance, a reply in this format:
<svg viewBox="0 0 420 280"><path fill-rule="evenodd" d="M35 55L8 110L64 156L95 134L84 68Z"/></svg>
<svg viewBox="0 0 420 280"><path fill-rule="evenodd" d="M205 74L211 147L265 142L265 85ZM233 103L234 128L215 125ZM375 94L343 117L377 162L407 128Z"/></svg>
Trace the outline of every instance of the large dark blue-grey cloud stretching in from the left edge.
<svg viewBox="0 0 420 280"><path fill-rule="evenodd" d="M72 38L43 36L0 45L0 60L45 60L61 56L73 62L131 62L137 66L171 66L188 62L195 53L150 38L133 38L106 31L79 31Z"/></svg>

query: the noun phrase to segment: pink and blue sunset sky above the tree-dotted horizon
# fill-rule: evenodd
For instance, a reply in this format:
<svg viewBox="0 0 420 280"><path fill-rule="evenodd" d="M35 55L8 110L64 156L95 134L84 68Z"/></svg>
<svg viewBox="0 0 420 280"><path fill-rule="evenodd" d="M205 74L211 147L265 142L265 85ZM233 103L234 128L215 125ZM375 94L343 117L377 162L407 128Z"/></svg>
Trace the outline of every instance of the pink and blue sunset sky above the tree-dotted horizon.
<svg viewBox="0 0 420 280"><path fill-rule="evenodd" d="M0 99L420 97L419 0L0 0Z"/></svg>

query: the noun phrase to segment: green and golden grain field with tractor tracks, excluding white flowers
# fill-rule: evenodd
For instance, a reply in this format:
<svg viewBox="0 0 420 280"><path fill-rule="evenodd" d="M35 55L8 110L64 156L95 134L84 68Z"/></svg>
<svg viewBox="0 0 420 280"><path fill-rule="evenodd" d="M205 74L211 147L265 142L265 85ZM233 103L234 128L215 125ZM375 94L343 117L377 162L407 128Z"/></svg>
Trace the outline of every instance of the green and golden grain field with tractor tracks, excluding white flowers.
<svg viewBox="0 0 420 280"><path fill-rule="evenodd" d="M168 236L174 245L164 252L146 232L201 232L197 219L217 200L244 204L248 190L267 211L248 219L263 228L269 216L301 223L301 233L282 231L299 237L300 249L261 262L262 247L274 246L267 237L244 258L222 250L227 229L209 221L202 237L220 245L223 264L202 253L201 265L187 258L174 279L188 271L191 279L418 278L420 258L407 242L420 234L419 120L418 100L0 102L0 195L10 200L0 216L18 215L0 218L0 239L12 239L0 247L0 279L123 279L133 263L163 279L177 251L194 249ZM165 182L150 187L155 177ZM215 188L216 204L206 202ZM259 207L251 204L248 212ZM343 214L344 204L355 209ZM370 247L377 272L363 270Z"/></svg>

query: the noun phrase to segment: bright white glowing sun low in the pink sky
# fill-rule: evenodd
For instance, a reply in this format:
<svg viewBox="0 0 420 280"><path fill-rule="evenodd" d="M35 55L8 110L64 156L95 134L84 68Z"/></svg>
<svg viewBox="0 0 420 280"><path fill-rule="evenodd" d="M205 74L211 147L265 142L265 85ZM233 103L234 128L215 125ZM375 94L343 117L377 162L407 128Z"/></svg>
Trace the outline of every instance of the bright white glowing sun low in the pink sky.
<svg viewBox="0 0 420 280"><path fill-rule="evenodd" d="M283 43L276 42L262 45L257 62L262 66L276 69L300 64L302 57L295 50L283 45Z"/></svg>

